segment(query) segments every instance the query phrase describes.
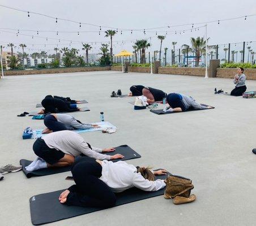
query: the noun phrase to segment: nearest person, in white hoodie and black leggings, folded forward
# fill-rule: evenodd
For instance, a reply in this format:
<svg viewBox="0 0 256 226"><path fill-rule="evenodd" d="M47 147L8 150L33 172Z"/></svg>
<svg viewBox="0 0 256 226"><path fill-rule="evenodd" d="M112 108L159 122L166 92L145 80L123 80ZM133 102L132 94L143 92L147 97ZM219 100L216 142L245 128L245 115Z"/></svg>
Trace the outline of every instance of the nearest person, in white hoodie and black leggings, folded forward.
<svg viewBox="0 0 256 226"><path fill-rule="evenodd" d="M126 162L83 158L72 168L75 185L59 196L66 205L109 208L115 205L116 195L129 188L153 192L165 187L165 180L155 180L155 175L166 175L165 169L151 171Z"/></svg>

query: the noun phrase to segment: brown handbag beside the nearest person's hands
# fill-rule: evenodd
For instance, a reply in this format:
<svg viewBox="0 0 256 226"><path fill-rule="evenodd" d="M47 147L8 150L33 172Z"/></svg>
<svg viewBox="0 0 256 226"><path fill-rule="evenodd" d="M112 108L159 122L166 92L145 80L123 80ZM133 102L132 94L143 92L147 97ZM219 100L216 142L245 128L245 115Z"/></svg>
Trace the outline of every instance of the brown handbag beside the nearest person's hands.
<svg viewBox="0 0 256 226"><path fill-rule="evenodd" d="M185 177L170 175L167 177L164 198L174 198L176 196L189 198L191 190L194 188L192 181Z"/></svg>

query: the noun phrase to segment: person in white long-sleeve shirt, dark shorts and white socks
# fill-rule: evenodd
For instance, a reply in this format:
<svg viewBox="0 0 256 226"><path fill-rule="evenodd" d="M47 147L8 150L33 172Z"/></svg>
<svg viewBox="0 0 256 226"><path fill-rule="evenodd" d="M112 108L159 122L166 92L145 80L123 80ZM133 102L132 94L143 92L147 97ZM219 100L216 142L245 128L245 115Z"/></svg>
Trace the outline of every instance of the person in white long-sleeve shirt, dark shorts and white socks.
<svg viewBox="0 0 256 226"><path fill-rule="evenodd" d="M38 138L33 144L33 151L39 157L29 166L27 171L47 167L64 167L74 163L75 157L83 154L94 159L110 160L123 158L123 155L105 155L104 152L115 151L112 147L99 149L92 147L78 133L59 131Z"/></svg>

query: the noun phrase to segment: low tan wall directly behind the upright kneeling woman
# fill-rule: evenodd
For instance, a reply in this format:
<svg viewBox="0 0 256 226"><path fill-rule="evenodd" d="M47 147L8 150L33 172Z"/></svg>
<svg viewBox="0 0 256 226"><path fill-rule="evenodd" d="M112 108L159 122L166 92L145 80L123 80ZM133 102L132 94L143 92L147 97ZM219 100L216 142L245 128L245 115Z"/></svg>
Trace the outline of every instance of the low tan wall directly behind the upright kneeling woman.
<svg viewBox="0 0 256 226"><path fill-rule="evenodd" d="M217 68L217 76L226 79L233 79L237 74L237 68ZM246 79L256 80L256 69L255 68L245 68L244 74Z"/></svg>

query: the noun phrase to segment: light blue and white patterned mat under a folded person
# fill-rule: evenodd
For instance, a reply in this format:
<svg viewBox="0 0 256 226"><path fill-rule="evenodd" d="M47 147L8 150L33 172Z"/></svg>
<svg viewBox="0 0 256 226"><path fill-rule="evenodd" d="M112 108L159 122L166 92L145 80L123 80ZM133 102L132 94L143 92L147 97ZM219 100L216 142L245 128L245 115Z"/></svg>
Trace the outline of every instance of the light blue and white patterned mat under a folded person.
<svg viewBox="0 0 256 226"><path fill-rule="evenodd" d="M75 133L86 133L86 132L92 132L92 131L103 131L104 129L107 129L107 128L114 128L114 129L117 128L114 125L112 125L111 123L109 123L108 121L100 121L98 123L92 123L92 124L97 124L97 125L100 126L100 128L74 129L72 131L75 132ZM44 129L33 130L33 135L31 137L31 139L35 139L35 138L39 138L39 137L45 136L46 134L42 134L43 130Z"/></svg>

